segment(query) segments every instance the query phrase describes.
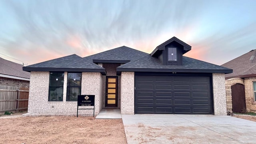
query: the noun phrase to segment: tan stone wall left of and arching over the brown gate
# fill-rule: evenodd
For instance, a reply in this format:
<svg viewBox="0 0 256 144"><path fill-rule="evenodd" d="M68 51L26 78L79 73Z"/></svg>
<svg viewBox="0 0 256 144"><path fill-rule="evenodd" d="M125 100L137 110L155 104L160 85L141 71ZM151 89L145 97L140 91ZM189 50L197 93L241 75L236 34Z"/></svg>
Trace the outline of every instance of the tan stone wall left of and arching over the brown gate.
<svg viewBox="0 0 256 144"><path fill-rule="evenodd" d="M231 86L235 84L243 84L244 85L244 80L242 78L230 78L228 80L225 80L225 85L226 85L226 101L227 101L227 111L233 112L232 111L232 90Z"/></svg>

